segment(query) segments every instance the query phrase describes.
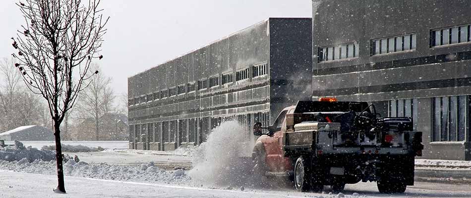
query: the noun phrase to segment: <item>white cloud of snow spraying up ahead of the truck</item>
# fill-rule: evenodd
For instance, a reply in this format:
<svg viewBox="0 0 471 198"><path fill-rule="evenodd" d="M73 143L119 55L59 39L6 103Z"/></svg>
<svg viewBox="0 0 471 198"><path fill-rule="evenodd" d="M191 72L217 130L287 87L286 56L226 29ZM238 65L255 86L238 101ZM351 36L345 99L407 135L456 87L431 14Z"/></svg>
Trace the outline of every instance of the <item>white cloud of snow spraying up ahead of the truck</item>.
<svg viewBox="0 0 471 198"><path fill-rule="evenodd" d="M250 176L253 137L236 121L215 128L208 141L194 150L193 169L188 174L195 184L241 186Z"/></svg>

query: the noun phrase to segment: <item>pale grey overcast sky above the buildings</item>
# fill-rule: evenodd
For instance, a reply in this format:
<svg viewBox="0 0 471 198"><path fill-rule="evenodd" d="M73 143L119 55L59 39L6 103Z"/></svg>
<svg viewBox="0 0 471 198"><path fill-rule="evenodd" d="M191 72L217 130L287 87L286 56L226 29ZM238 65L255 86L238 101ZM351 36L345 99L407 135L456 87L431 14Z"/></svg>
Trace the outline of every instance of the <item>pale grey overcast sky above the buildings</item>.
<svg viewBox="0 0 471 198"><path fill-rule="evenodd" d="M24 23L16 1L0 2L0 57ZM110 16L100 61L116 93L127 77L268 17L311 17L311 0L102 0Z"/></svg>

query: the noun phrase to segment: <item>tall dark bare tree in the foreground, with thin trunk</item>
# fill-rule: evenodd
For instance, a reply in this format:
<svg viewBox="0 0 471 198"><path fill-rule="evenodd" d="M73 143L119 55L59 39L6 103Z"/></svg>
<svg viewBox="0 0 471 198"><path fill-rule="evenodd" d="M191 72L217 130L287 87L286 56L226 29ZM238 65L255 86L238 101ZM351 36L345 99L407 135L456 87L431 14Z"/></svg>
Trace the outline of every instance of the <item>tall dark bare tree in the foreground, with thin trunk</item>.
<svg viewBox="0 0 471 198"><path fill-rule="evenodd" d="M24 2L24 3L23 3ZM46 99L54 121L58 173L57 193L65 193L60 125L78 93L91 78L92 59L99 51L109 18L98 9L100 0L25 0L17 3L25 25L12 38L19 59L15 66L33 93ZM98 73L95 72L95 74Z"/></svg>

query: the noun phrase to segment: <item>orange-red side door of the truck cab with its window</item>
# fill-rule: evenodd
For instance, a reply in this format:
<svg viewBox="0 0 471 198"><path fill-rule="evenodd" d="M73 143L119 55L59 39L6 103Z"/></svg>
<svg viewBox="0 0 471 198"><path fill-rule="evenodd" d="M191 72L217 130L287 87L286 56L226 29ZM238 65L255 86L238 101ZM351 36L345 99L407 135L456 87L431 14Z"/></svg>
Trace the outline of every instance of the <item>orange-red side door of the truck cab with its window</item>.
<svg viewBox="0 0 471 198"><path fill-rule="evenodd" d="M265 142L265 151L267 153L267 164L271 172L285 171L285 157L283 156L283 133L282 126L285 123L286 113L282 111L272 126L276 127L275 133L267 137Z"/></svg>

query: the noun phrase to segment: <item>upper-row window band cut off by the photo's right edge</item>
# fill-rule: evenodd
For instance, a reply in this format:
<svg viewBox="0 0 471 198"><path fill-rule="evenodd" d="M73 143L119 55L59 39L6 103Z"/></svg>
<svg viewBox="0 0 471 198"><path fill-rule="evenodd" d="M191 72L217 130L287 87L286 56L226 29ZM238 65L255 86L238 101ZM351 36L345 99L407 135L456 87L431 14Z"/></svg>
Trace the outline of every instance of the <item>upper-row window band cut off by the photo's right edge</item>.
<svg viewBox="0 0 471 198"><path fill-rule="evenodd" d="M430 46L446 46L471 42L470 26L462 25L430 31Z"/></svg>

